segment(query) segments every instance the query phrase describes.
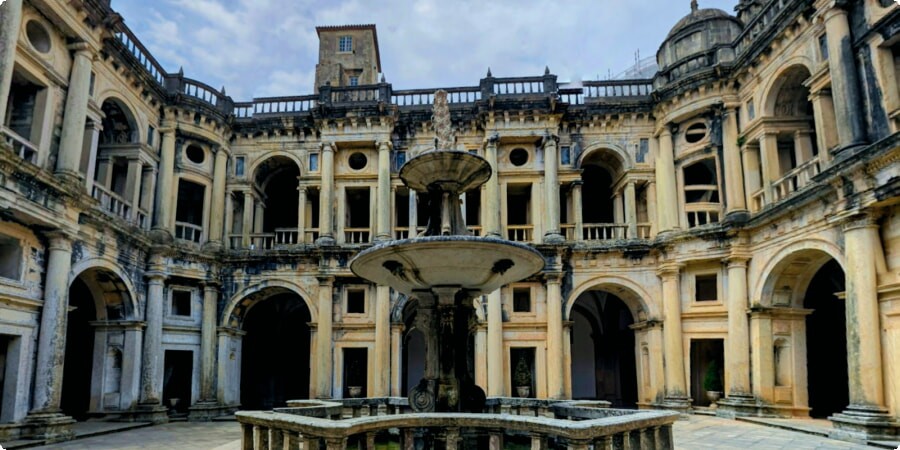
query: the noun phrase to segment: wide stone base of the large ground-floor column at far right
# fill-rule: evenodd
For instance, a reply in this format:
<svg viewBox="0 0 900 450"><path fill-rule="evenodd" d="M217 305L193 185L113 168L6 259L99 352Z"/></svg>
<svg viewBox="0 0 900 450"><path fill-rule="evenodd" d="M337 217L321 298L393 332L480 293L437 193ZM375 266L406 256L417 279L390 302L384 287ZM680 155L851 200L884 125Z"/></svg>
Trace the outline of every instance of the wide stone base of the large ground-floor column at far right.
<svg viewBox="0 0 900 450"><path fill-rule="evenodd" d="M829 433L834 439L894 441L900 437L900 423L887 409L877 406L850 405L828 420L834 424Z"/></svg>

